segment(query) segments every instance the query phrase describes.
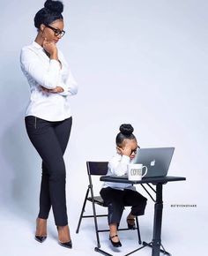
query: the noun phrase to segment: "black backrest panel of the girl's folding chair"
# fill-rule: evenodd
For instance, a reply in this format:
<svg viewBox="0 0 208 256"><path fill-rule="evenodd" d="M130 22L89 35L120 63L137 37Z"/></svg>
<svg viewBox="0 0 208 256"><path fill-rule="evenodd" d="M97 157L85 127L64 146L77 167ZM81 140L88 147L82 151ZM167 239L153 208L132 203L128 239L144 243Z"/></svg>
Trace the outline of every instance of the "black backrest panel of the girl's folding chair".
<svg viewBox="0 0 208 256"><path fill-rule="evenodd" d="M108 162L86 162L88 175L106 175Z"/></svg>

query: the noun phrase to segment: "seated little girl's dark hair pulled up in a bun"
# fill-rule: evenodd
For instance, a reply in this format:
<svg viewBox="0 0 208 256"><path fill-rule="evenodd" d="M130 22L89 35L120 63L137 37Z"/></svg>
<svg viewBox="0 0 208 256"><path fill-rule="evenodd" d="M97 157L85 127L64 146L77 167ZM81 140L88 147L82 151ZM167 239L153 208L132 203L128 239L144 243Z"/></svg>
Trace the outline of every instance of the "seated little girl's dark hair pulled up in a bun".
<svg viewBox="0 0 208 256"><path fill-rule="evenodd" d="M123 144L124 139L136 139L134 136L134 128L131 124L122 124L120 126L120 132L117 134L115 138L115 143L117 146L121 146Z"/></svg>

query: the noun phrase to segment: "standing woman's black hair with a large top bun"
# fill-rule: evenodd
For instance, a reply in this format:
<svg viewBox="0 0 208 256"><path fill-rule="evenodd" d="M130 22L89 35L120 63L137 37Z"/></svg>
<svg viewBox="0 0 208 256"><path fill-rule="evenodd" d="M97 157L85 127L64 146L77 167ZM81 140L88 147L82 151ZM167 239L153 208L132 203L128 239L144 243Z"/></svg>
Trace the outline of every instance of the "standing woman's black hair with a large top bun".
<svg viewBox="0 0 208 256"><path fill-rule="evenodd" d="M34 16L34 26L40 29L41 24L48 26L56 19L63 19L63 3L61 1L47 0L44 8Z"/></svg>

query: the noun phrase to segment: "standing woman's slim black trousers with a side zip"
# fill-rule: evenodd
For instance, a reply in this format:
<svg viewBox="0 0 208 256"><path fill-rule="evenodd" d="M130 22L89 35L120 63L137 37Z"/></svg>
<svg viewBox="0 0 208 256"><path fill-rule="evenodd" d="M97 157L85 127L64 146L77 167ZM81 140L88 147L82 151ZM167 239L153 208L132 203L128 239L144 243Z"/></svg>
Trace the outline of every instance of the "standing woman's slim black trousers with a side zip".
<svg viewBox="0 0 208 256"><path fill-rule="evenodd" d="M65 164L63 154L71 133L72 118L49 122L26 117L26 132L42 159L40 212L47 219L52 206L56 226L68 224L65 196Z"/></svg>

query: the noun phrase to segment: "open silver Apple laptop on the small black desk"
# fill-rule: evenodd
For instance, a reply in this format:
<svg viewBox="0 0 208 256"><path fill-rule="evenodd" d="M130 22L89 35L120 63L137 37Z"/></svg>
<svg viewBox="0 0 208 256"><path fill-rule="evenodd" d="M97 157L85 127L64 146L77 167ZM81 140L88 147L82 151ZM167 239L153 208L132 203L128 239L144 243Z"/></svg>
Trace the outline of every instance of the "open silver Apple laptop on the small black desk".
<svg viewBox="0 0 208 256"><path fill-rule="evenodd" d="M134 163L142 163L148 170L145 177L166 177L175 147L139 148Z"/></svg>

